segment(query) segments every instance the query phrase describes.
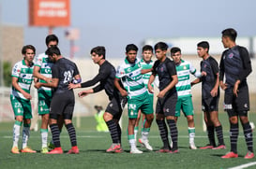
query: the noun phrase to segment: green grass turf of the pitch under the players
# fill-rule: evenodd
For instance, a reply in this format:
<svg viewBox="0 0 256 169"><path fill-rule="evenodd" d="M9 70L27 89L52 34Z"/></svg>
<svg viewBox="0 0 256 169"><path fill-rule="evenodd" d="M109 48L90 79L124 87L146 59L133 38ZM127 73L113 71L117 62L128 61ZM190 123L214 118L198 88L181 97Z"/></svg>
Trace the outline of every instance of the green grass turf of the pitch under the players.
<svg viewBox="0 0 256 169"><path fill-rule="evenodd" d="M255 120L255 114L250 114L250 120ZM12 154L10 148L12 146L12 126L13 122L0 123L0 168L229 168L241 165L248 162L255 162L252 160L245 160L243 157L247 153L246 143L243 132L240 127L240 134L238 140L238 154L237 159L221 159L230 150L229 142L229 122L227 115L219 114L219 120L223 125L224 138L227 149L196 149L188 148L188 125L185 118L182 116L178 121L179 138L178 145L180 152L177 154L156 153L154 151L146 151L142 149L143 154L129 154L128 140L127 140L127 123L126 116L123 118L123 153L106 153L105 150L111 146L111 138L108 133L98 133L95 130L96 122L93 117L86 117L81 119L81 127L77 128L78 146L80 154L61 154L48 155L39 153L41 142L40 133L31 132L28 145L34 148L38 153L34 154ZM203 132L202 115L195 116L196 121L196 146L202 147L207 144L206 133ZM76 124L77 120L74 119ZM51 134L49 134L50 140ZM158 134L158 127L156 121L153 122L152 129L149 136L149 141L155 150L162 146ZM22 137L19 141L22 143ZM254 136L255 143L255 136ZM61 134L61 144L65 152L70 148L68 133L66 129ZM255 168L256 165L250 168Z"/></svg>

